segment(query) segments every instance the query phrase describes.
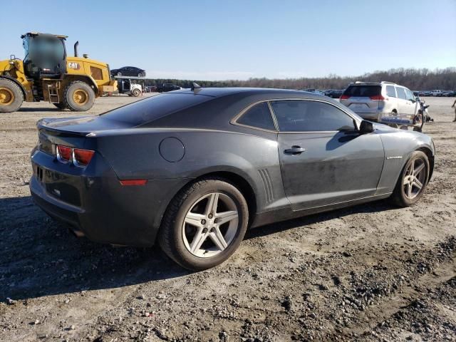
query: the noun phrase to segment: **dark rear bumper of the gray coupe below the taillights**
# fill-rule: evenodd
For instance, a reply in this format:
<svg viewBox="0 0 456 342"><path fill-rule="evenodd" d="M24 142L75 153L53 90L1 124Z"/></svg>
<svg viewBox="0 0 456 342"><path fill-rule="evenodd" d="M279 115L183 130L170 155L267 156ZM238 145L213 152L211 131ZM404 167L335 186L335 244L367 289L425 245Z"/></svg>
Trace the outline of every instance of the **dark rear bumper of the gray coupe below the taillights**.
<svg viewBox="0 0 456 342"><path fill-rule="evenodd" d="M88 239L107 244L152 246L167 204L189 181L148 180L143 186L123 186L103 157L90 162L91 170L76 170L54 159L40 151L32 155L33 201Z"/></svg>

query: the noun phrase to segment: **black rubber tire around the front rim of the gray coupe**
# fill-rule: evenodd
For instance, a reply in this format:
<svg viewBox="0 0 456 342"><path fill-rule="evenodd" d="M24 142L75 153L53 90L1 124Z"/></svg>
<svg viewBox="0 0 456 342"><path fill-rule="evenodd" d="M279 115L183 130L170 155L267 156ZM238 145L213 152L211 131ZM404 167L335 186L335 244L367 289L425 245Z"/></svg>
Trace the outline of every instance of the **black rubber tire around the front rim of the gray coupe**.
<svg viewBox="0 0 456 342"><path fill-rule="evenodd" d="M424 163L424 172L425 174L423 175L422 179L422 184L423 187L420 189L418 194L413 197L409 198L405 194L405 177L408 177L408 170L410 169L410 165L412 162L420 160ZM391 195L390 199L393 201L394 204L398 205L399 207L410 207L411 205L415 204L418 202L418 200L423 196L423 192L426 189L427 182L429 180L429 173L430 173L430 164L429 164L429 158L423 151L415 151L410 155L410 158L408 161L405 163L405 166L400 172L400 176L398 178L398 182L396 183L395 189L393 191L393 195Z"/></svg>

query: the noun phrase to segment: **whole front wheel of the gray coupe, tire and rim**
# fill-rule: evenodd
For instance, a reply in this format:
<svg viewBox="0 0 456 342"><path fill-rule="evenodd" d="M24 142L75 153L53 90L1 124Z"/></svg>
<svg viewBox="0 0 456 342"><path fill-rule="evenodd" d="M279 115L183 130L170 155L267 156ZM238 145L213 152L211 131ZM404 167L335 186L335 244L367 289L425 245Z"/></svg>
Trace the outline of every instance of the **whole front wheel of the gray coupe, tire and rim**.
<svg viewBox="0 0 456 342"><path fill-rule="evenodd" d="M429 158L422 151L415 151L405 164L391 199L400 207L418 202L429 180Z"/></svg>

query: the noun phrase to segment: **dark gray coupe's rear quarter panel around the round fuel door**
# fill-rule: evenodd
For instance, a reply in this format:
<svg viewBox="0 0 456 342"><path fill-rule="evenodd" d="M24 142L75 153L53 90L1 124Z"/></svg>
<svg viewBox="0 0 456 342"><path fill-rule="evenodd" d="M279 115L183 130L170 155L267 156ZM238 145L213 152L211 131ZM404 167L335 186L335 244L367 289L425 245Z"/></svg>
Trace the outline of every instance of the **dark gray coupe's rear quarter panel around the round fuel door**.
<svg viewBox="0 0 456 342"><path fill-rule="evenodd" d="M120 179L195 179L212 172L233 172L251 185L258 212L289 206L281 181L275 133L131 131L134 133L97 138L98 151ZM182 142L185 154L181 160L168 162L160 155L160 142L165 138Z"/></svg>

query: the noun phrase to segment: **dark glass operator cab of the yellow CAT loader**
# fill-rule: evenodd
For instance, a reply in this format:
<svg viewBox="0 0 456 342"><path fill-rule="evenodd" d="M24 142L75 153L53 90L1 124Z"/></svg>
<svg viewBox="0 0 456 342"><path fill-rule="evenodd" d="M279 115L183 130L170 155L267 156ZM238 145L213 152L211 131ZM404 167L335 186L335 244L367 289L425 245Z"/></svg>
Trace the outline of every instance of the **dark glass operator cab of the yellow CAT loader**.
<svg viewBox="0 0 456 342"><path fill-rule="evenodd" d="M28 78L60 78L66 73L66 36L26 33L21 36L24 46L24 71Z"/></svg>

